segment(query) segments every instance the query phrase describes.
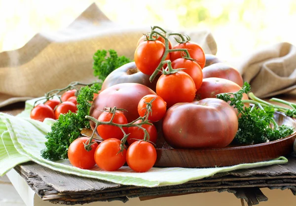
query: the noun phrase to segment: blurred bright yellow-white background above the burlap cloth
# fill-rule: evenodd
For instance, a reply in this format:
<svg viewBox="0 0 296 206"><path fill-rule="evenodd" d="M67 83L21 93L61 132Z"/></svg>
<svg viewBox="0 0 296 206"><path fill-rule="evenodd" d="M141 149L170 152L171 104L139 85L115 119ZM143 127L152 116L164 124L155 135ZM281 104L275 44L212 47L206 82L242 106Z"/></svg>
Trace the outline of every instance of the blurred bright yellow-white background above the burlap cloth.
<svg viewBox="0 0 296 206"><path fill-rule="evenodd" d="M121 24L208 29L222 58L280 41L296 45L296 0L0 0L0 51L66 27L92 2Z"/></svg>

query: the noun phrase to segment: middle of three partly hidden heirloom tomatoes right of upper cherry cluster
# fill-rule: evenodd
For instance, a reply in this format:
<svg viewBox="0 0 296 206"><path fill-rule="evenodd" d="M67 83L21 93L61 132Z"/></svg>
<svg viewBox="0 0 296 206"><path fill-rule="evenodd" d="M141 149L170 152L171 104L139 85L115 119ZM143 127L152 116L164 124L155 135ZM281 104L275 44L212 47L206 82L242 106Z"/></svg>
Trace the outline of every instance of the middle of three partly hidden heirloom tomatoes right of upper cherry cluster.
<svg viewBox="0 0 296 206"><path fill-rule="evenodd" d="M239 86L243 86L244 81L239 72L233 67L225 64L225 63L216 63L212 64L208 67L205 67L202 70L203 78L210 77L218 77L226 80L230 80L231 82L237 83Z"/></svg>

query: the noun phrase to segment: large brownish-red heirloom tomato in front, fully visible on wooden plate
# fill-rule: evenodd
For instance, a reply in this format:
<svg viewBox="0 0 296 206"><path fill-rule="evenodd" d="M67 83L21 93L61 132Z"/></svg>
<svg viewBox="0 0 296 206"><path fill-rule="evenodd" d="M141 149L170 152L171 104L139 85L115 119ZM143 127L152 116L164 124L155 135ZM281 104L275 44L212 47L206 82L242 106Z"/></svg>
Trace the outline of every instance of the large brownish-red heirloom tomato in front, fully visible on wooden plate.
<svg viewBox="0 0 296 206"><path fill-rule="evenodd" d="M234 139L236 113L221 99L179 103L168 109L162 122L163 136L173 148L222 148Z"/></svg>

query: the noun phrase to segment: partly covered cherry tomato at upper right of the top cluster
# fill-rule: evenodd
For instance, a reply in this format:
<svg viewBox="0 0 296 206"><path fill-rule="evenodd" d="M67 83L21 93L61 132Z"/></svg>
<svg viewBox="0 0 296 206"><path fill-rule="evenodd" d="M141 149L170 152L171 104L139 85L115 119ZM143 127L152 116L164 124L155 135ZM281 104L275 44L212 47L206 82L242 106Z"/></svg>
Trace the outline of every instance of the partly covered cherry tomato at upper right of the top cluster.
<svg viewBox="0 0 296 206"><path fill-rule="evenodd" d="M195 61L199 64L201 69L204 68L206 64L206 57L203 49L198 44L188 41L186 43L178 43L173 47L173 49L180 49L180 48L187 49L190 57L192 59L195 59ZM182 51L182 56L181 56L181 51L174 51L170 53L170 59L172 62L183 56L185 56L184 51Z"/></svg>

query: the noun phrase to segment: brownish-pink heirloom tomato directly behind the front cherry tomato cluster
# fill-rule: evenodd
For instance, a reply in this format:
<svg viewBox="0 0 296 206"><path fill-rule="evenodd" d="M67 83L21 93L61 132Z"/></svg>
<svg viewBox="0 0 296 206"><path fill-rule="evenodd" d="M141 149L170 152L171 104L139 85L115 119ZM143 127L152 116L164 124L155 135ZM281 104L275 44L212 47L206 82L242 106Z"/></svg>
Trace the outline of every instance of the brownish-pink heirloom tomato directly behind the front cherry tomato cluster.
<svg viewBox="0 0 296 206"><path fill-rule="evenodd" d="M90 116L98 119L105 107L117 107L125 109L123 114L130 123L139 117L139 101L148 94L155 94L152 89L139 83L119 83L105 90L95 98L90 108ZM95 124L91 121L90 125L94 129Z"/></svg>

